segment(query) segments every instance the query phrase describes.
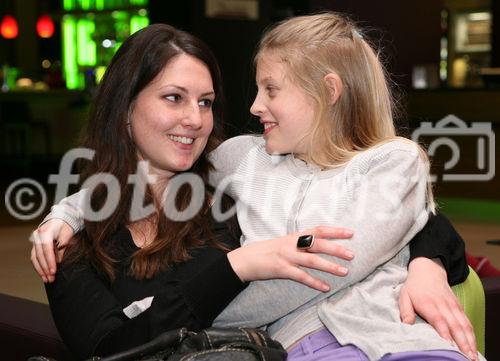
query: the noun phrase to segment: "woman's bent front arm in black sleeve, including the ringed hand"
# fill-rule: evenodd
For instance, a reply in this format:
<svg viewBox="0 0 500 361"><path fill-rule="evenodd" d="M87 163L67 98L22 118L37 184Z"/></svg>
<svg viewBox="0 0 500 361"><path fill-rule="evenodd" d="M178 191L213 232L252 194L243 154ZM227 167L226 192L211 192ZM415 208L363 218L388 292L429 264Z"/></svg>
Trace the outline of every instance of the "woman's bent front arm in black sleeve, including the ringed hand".
<svg viewBox="0 0 500 361"><path fill-rule="evenodd" d="M224 223L214 224L214 231L220 241L230 247L237 246L229 238L234 234ZM350 236L349 232L337 228L325 228L317 234L318 237ZM228 254L214 248L196 249L192 259L172 267L166 281L155 286L151 306L132 319L125 316L124 305L110 291L109 280L90 263L63 263L55 281L46 285L54 320L63 340L79 358L118 352L179 327L206 328L246 287L242 278L300 279L301 264L336 271L335 265L321 257L298 252L296 237L262 241L257 247L244 247ZM321 238L314 247L318 252L339 256L345 252ZM307 278L302 281L312 287L320 282ZM137 283L134 284L137 287Z"/></svg>

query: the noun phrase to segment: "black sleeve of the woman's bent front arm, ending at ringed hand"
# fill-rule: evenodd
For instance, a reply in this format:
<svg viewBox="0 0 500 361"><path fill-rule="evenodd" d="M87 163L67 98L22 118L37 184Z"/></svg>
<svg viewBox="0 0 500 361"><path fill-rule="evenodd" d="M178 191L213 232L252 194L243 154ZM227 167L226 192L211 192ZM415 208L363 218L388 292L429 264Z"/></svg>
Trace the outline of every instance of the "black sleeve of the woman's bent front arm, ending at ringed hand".
<svg viewBox="0 0 500 361"><path fill-rule="evenodd" d="M204 248L181 264L151 306L132 319L90 264L60 267L46 291L62 339L83 359L123 351L179 327L208 327L245 287L224 251Z"/></svg>

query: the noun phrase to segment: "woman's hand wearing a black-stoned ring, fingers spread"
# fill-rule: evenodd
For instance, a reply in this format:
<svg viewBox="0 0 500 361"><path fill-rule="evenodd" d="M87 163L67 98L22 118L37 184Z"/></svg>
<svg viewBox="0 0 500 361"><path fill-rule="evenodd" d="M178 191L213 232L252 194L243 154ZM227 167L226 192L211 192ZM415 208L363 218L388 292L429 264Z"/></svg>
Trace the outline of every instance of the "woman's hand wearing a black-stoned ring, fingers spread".
<svg viewBox="0 0 500 361"><path fill-rule="evenodd" d="M300 250L297 248L297 238L306 234L315 236L314 244L308 250ZM302 267L345 276L347 274L345 267L328 261L316 253L351 260L354 254L350 250L329 239L351 238L352 235L352 231L345 228L315 227L304 232L240 247L229 252L228 259L242 281L286 278L327 292L330 286L312 277Z"/></svg>

